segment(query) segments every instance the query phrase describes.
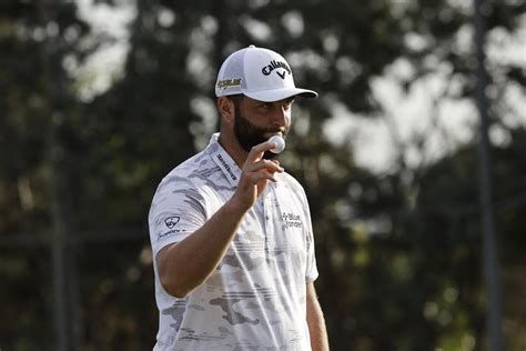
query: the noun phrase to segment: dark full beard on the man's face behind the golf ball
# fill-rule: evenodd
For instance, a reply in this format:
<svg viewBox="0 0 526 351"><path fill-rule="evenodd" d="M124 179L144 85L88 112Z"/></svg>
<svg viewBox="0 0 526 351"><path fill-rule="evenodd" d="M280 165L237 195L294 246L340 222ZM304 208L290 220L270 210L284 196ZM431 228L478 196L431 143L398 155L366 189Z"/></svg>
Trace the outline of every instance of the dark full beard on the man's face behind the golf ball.
<svg viewBox="0 0 526 351"><path fill-rule="evenodd" d="M234 134L243 150L246 152L250 152L253 147L267 141L269 138L265 137L265 134L280 132L280 130L259 128L241 114L240 108L237 106L235 106L234 111ZM285 137L286 132L283 133L283 138ZM263 159L267 160L271 160L275 157L276 153L271 151L265 151L263 154Z"/></svg>

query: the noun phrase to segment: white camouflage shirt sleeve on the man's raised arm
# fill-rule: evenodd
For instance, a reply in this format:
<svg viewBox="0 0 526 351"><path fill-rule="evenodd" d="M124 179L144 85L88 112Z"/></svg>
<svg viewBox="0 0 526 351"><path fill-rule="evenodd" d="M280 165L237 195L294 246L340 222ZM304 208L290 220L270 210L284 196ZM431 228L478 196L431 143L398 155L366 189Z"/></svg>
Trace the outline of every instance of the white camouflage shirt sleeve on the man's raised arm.
<svg viewBox="0 0 526 351"><path fill-rule="evenodd" d="M204 199L186 178L163 180L149 214L153 257L165 245L179 242L205 222Z"/></svg>

